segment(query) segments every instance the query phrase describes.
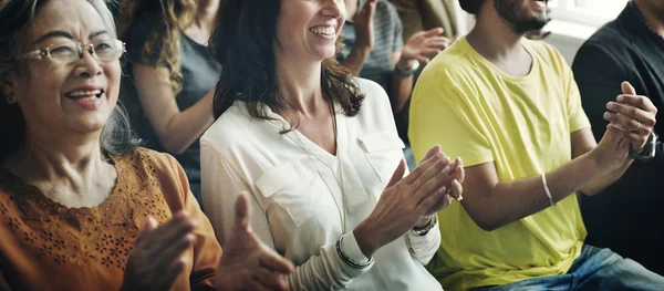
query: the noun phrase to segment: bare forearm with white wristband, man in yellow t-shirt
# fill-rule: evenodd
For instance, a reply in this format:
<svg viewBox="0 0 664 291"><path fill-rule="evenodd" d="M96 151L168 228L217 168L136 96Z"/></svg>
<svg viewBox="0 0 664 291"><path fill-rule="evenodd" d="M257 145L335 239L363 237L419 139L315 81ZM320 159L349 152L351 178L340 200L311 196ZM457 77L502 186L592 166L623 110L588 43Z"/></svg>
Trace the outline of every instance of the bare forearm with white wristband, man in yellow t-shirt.
<svg viewBox="0 0 664 291"><path fill-rule="evenodd" d="M549 191L554 202L580 190L588 183L605 175L592 152L587 153L567 165L546 174ZM500 181L489 195L461 201L469 212L476 214L475 221L485 230L495 230L523 217L537 214L550 207L541 176L531 176L512 181Z"/></svg>

